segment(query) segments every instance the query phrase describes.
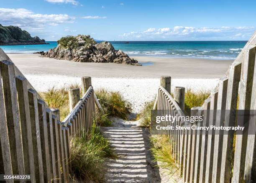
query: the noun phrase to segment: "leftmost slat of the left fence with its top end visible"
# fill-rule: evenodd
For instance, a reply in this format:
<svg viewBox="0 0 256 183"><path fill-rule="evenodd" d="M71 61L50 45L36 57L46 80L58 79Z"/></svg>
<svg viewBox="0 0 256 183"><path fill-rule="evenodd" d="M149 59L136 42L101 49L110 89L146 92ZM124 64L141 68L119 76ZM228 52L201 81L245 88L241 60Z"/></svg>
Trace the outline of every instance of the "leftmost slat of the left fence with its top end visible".
<svg viewBox="0 0 256 183"><path fill-rule="evenodd" d="M1 61L3 93L13 174L25 174L14 64Z"/></svg>

